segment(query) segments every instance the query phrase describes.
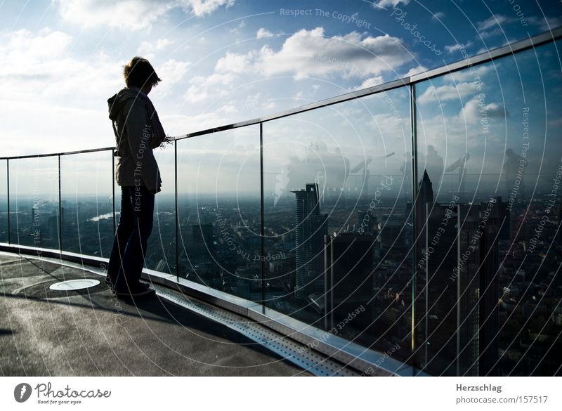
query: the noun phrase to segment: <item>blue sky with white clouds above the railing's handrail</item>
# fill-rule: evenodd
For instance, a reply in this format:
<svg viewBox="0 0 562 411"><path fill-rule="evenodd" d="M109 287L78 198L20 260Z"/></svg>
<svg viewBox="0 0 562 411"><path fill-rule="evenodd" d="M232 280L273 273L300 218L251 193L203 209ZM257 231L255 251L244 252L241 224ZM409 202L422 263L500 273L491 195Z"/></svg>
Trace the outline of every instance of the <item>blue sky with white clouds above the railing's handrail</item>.
<svg viewBox="0 0 562 411"><path fill-rule="evenodd" d="M150 98L178 136L462 60L463 49L558 27L561 11L558 1L3 1L1 155L114 145L106 100L132 56L163 79Z"/></svg>

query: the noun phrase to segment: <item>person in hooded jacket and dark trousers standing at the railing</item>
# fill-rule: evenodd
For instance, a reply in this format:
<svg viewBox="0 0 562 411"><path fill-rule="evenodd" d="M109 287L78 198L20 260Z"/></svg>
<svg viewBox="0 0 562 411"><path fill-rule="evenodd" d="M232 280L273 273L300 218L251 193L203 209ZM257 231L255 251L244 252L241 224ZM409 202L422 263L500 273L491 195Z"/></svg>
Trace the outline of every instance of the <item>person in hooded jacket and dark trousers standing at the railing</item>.
<svg viewBox="0 0 562 411"><path fill-rule="evenodd" d="M150 296L141 283L152 232L155 195L162 180L152 150L168 141L148 93L160 79L145 58L124 67L126 87L107 100L116 138L115 180L121 187L121 214L105 281L119 298Z"/></svg>

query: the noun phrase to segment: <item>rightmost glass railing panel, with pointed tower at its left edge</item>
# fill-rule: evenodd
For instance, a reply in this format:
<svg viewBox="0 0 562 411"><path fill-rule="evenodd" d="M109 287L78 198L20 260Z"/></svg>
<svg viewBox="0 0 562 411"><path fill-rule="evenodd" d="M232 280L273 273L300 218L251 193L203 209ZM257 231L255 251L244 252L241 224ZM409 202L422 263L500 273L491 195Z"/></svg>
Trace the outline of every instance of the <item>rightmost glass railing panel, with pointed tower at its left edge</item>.
<svg viewBox="0 0 562 411"><path fill-rule="evenodd" d="M556 45L415 86L416 355L431 374L559 372Z"/></svg>

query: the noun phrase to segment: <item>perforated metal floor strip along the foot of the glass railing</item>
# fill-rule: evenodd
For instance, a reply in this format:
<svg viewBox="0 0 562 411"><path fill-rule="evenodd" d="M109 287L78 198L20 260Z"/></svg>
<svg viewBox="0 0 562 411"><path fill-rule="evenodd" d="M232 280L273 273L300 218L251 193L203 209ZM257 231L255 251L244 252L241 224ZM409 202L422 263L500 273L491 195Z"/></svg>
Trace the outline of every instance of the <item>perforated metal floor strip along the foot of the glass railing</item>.
<svg viewBox="0 0 562 411"><path fill-rule="evenodd" d="M192 299L181 292L160 285L152 284L152 287L155 288L158 296L161 298L226 325L231 330L240 332L240 334L256 341L256 343L277 353L282 358L303 368L303 370L311 372L311 374L320 377L351 377L359 375L358 372L348 370L338 361L332 360L332 358L328 358L317 351L308 349L303 344L274 332L257 322L248 320L241 315L211 306L203 301Z"/></svg>

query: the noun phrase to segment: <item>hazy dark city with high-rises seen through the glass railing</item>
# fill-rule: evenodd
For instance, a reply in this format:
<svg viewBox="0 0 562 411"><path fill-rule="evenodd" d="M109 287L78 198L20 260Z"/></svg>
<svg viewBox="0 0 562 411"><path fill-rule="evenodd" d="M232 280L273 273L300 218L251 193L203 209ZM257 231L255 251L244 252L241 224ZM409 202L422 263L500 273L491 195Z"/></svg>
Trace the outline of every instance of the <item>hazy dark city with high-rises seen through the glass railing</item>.
<svg viewBox="0 0 562 411"><path fill-rule="evenodd" d="M177 268L174 197L159 196L145 266L177 270L365 347L399 346L396 358L431 374L556 371L562 211L548 195L531 204L500 196L469 203L459 191L440 203L426 172L413 203L407 195L378 205L367 195L327 193L310 182L266 202L263 255L259 196L180 195ZM58 203L25 204L11 204L11 241L58 248ZM112 207L109 196L63 197L63 249L107 258Z"/></svg>

